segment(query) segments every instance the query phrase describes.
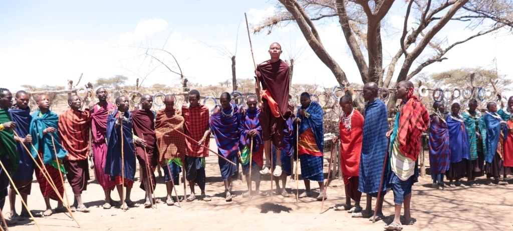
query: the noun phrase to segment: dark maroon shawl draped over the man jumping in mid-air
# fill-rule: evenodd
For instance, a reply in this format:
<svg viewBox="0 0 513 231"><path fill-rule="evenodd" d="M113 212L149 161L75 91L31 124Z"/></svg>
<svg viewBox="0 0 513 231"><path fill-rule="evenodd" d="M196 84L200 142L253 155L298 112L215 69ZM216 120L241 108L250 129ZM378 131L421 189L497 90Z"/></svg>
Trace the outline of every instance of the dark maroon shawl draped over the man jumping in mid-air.
<svg viewBox="0 0 513 231"><path fill-rule="evenodd" d="M262 83L262 90L267 90L272 99L278 103L280 114L287 119L292 114L288 108L290 67L283 61L267 60L257 67L257 75Z"/></svg>

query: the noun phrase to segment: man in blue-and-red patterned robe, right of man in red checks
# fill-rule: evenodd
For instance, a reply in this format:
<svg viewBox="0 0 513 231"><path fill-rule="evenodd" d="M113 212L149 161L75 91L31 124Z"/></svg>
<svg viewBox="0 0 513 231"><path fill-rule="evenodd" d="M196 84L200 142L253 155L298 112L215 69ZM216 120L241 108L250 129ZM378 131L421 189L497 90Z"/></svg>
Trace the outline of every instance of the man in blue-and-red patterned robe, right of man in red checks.
<svg viewBox="0 0 513 231"><path fill-rule="evenodd" d="M231 201L230 185L232 177L239 175L239 109L230 103L228 92L220 97L221 105L216 107L210 116L210 129L218 144L218 152L226 159L219 157L219 168L225 185L226 201Z"/></svg>

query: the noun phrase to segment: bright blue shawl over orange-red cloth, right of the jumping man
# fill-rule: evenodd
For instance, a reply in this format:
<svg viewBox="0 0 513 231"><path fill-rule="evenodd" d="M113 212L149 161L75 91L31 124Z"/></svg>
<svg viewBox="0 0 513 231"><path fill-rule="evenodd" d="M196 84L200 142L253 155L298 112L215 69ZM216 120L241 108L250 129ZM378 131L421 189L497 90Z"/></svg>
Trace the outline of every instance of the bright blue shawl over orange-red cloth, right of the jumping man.
<svg viewBox="0 0 513 231"><path fill-rule="evenodd" d="M299 115L299 110L296 115L301 119L301 122L299 123L299 135L303 134L304 131L306 131L308 128L312 129L313 135L315 136L315 143L317 143L317 147L321 151L321 153L324 153L324 128L322 125L322 107L317 102L311 102L310 105L306 108L306 113L310 114L310 118L307 118L306 116ZM294 129L293 138L297 137L295 134L296 131ZM297 142L297 140L294 140Z"/></svg>

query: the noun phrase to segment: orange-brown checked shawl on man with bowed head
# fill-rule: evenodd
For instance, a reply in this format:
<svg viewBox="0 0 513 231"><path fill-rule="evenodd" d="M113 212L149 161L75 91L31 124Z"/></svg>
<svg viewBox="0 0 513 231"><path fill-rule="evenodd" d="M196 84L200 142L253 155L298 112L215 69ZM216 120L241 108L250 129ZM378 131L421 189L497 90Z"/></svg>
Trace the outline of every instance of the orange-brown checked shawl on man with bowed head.
<svg viewBox="0 0 513 231"><path fill-rule="evenodd" d="M155 136L159 149L159 163L165 166L166 159L179 157L185 161L185 136L175 130L184 132L184 117L178 109L159 111L155 120Z"/></svg>

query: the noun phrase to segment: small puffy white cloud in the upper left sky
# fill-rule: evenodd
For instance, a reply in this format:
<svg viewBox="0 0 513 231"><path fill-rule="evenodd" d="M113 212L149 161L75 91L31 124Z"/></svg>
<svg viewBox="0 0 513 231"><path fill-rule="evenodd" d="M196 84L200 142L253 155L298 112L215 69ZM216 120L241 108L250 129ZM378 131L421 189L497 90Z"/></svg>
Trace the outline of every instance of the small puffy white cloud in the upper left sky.
<svg viewBox="0 0 513 231"><path fill-rule="evenodd" d="M142 41L146 36L167 28L166 20L162 18L142 19L133 32L126 32L120 35L120 45L127 45L133 41Z"/></svg>

